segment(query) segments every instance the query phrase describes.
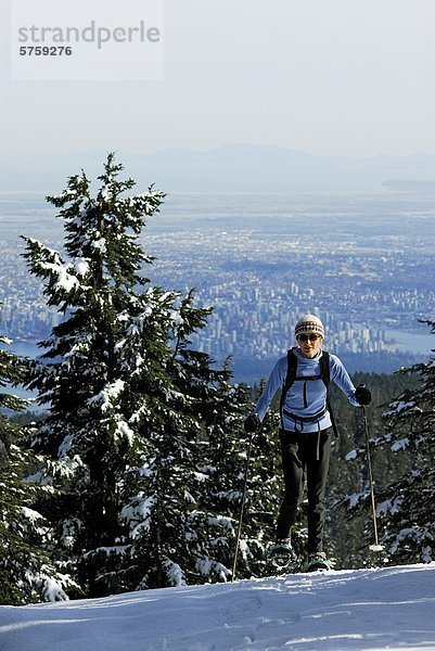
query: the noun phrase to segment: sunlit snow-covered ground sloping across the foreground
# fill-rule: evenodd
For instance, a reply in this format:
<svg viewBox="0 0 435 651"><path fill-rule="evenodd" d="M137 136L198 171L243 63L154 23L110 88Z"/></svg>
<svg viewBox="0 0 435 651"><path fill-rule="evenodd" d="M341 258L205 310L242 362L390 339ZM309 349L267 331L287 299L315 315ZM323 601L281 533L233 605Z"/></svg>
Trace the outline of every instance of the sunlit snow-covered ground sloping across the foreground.
<svg viewBox="0 0 435 651"><path fill-rule="evenodd" d="M434 649L435 563L0 608L1 651Z"/></svg>

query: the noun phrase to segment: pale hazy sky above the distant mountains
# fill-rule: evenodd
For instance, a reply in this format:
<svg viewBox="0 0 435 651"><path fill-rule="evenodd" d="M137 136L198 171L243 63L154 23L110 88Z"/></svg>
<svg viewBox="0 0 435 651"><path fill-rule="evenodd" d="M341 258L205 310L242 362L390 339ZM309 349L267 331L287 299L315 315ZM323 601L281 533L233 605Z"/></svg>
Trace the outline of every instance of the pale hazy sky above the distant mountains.
<svg viewBox="0 0 435 651"><path fill-rule="evenodd" d="M312 154L435 153L434 0L164 8L162 80L12 81L9 2L0 0L1 152L243 142Z"/></svg>

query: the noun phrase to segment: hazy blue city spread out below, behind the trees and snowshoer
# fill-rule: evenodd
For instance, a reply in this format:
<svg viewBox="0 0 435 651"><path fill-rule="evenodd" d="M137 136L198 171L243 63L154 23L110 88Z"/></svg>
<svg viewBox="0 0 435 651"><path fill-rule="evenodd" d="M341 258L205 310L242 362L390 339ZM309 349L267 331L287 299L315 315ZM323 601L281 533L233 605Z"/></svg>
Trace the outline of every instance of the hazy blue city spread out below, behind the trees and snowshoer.
<svg viewBox="0 0 435 651"><path fill-rule="evenodd" d="M17 229L62 250L62 222L42 200L28 200L26 210L13 199L1 205L2 328L35 342L60 316L20 260ZM156 258L143 272L181 295L193 288L199 306L213 306L192 345L217 360L231 355L235 362L270 366L294 343L297 318L315 311L324 321L328 348L356 357L350 368L374 370L378 355L376 370L392 372L433 347L419 323L435 318L432 205L424 194L387 192L180 195L141 234L144 251ZM395 343L405 333L411 333L406 342L413 354L392 357L410 349Z"/></svg>

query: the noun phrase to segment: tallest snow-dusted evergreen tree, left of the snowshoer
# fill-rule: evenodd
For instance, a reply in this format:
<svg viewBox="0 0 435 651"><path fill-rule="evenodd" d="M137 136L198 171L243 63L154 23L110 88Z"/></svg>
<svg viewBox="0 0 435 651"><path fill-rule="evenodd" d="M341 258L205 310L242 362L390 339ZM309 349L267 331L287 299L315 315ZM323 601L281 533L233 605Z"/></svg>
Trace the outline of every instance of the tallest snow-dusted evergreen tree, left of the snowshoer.
<svg viewBox="0 0 435 651"><path fill-rule="evenodd" d="M48 197L65 255L26 239L30 271L63 315L28 381L50 405L31 442L50 456L40 476L52 494L39 506L55 531L52 557L89 596L226 575L219 562L205 572L208 537L197 534L209 525L199 508L204 423L225 372L189 336L209 309L142 275L152 258L138 238L164 194L125 196L135 182L120 170L110 154L97 196L81 173Z"/></svg>

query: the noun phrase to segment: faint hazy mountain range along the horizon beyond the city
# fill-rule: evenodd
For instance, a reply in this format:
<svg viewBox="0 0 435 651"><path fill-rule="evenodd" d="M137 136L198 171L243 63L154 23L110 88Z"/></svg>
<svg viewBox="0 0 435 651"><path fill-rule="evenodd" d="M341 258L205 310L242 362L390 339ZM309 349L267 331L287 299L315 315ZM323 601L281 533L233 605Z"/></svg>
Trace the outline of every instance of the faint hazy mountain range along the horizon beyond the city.
<svg viewBox="0 0 435 651"><path fill-rule="evenodd" d="M81 168L100 175L106 152L0 156L0 192L56 193ZM382 188L435 190L435 155L317 156L284 146L223 144L199 151L167 149L154 154L117 152L140 190L165 192L338 192Z"/></svg>

